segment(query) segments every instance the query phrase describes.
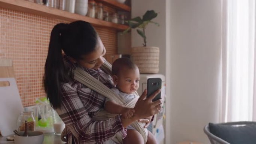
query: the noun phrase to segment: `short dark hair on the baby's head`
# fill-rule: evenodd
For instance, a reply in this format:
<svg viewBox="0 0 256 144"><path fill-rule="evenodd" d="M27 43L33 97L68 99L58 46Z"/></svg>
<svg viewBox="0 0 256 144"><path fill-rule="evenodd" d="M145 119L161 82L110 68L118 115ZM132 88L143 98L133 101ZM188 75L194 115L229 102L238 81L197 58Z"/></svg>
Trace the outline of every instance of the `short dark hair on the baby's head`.
<svg viewBox="0 0 256 144"><path fill-rule="evenodd" d="M118 58L113 62L112 75L118 75L121 68L127 67L131 70L138 68L129 58Z"/></svg>

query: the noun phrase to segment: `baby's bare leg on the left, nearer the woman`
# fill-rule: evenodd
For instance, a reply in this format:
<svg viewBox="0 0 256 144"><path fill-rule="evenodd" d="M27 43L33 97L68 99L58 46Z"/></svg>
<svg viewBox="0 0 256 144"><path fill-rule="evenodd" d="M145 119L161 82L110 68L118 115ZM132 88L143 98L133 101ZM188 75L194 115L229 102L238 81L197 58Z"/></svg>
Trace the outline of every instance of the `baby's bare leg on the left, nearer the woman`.
<svg viewBox="0 0 256 144"><path fill-rule="evenodd" d="M123 140L124 144L144 144L144 139L138 131L127 129L127 136Z"/></svg>

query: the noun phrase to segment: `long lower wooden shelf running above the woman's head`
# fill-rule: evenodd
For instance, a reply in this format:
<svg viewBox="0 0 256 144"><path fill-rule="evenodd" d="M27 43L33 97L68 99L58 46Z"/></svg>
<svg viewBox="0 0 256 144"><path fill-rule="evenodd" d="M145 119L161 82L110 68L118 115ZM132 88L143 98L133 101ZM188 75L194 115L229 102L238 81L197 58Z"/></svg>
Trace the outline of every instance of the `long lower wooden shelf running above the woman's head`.
<svg viewBox="0 0 256 144"><path fill-rule="evenodd" d="M102 0L102 1L113 1L113 0ZM116 1L115 1L116 2ZM78 15L76 13L70 13L52 7L43 6L40 4L32 3L25 0L0 0L0 7L17 10L20 12L32 13L41 16L47 16L51 18L61 19L65 21L77 21L83 20L90 22L94 26L113 28L119 31L128 28L127 25L115 24L112 22L103 21L100 19L90 18L88 16Z"/></svg>

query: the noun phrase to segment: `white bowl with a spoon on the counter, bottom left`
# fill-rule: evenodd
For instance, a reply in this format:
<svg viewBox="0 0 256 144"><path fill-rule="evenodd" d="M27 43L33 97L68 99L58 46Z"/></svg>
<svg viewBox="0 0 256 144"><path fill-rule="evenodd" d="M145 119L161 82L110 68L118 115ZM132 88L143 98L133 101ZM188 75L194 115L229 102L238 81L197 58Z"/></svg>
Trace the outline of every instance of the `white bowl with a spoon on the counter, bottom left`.
<svg viewBox="0 0 256 144"><path fill-rule="evenodd" d="M23 135L24 132L19 132L19 135ZM28 137L22 137L14 135L15 144L42 144L43 143L43 132L39 131L28 131Z"/></svg>

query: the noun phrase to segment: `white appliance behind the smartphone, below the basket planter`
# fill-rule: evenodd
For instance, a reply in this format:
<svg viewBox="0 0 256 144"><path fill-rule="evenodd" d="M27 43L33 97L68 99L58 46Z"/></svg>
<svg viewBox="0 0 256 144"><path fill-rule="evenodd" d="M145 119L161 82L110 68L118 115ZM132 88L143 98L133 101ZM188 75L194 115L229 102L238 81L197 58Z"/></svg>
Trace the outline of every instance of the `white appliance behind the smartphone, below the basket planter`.
<svg viewBox="0 0 256 144"><path fill-rule="evenodd" d="M147 79L149 78L161 78L162 80L161 98L163 99L163 110L155 115L153 122L150 123L147 129L155 135L158 144L163 144L165 128L165 76L162 74L140 74L140 84L137 91L139 95L143 93L144 89L147 89Z"/></svg>

